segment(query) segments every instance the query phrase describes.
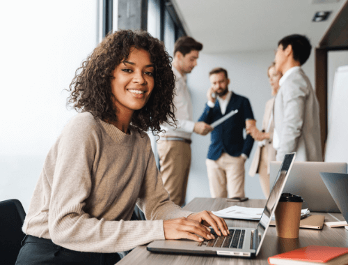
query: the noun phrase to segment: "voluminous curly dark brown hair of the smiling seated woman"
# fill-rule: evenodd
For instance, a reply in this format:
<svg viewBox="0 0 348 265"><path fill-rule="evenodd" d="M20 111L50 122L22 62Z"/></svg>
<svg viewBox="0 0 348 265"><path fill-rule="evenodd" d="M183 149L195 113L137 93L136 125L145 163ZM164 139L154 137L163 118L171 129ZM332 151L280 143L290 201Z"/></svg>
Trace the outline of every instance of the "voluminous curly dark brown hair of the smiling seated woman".
<svg viewBox="0 0 348 265"><path fill-rule="evenodd" d="M131 47L149 52L155 65L154 89L148 103L134 112L131 125L138 130L160 132L161 123L175 123L175 77L164 44L146 31L120 30L106 36L76 70L67 105L77 112L90 112L103 121L116 121L111 79L116 66L128 58Z"/></svg>

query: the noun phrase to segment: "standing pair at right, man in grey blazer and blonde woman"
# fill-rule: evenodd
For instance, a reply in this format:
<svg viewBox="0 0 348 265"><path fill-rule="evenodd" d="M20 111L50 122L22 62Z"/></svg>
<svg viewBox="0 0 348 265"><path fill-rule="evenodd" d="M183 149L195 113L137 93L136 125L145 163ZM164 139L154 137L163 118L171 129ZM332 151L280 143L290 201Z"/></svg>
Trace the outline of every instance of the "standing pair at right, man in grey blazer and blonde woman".
<svg viewBox="0 0 348 265"><path fill-rule="evenodd" d="M262 132L255 126L247 130L260 141L249 174L260 174L266 197L270 161L281 161L294 151L296 160L322 161L319 103L301 68L311 49L306 36L294 34L279 40L274 64L268 70L274 98L267 102Z"/></svg>

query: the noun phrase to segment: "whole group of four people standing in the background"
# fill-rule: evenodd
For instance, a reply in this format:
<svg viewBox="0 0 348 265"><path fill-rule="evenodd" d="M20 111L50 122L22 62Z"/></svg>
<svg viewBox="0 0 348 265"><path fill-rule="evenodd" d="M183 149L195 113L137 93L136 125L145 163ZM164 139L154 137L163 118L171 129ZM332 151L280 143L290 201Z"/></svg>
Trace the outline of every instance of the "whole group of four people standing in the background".
<svg viewBox="0 0 348 265"><path fill-rule="evenodd" d="M180 46L185 47L185 53ZM209 80L212 86L207 91L208 101L198 122L193 122L186 74L191 73L196 66L202 48L202 44L190 37L182 37L175 43L173 72L177 77L177 93L174 112L179 123L177 128L161 126L166 132L161 134L158 147L164 186L174 202L180 206L184 203L191 162L189 145L192 132L200 135L211 132L206 166L212 197L245 196L244 163L251 153L254 140L258 142L258 149L249 174L260 175L265 197L270 192L270 161L281 161L286 153L294 151L296 160L322 161L319 104L308 77L301 69L311 50L306 36L294 34L278 42L274 63L267 70L272 98L266 103L261 130L255 125L248 98L228 89L230 79L227 70L223 68L210 71ZM209 126L236 111L236 114L219 126ZM201 130L195 129L198 125ZM179 165L184 167L178 169Z"/></svg>

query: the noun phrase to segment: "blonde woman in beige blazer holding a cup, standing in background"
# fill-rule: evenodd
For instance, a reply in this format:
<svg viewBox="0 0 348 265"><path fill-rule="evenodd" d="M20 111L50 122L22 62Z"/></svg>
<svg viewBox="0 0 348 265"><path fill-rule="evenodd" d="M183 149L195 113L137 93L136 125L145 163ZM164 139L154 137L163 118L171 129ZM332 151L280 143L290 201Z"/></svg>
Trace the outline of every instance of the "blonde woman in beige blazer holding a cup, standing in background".
<svg viewBox="0 0 348 265"><path fill-rule="evenodd" d="M262 120L262 131L256 126L251 126L247 132L258 141L258 149L255 152L253 162L249 170L250 176L260 175L260 184L264 196L269 196L269 162L276 160L276 150L273 148L274 119L273 108L274 98L279 89L279 79L282 74L276 71L274 63L269 66L267 75L272 89L272 98L267 101Z"/></svg>

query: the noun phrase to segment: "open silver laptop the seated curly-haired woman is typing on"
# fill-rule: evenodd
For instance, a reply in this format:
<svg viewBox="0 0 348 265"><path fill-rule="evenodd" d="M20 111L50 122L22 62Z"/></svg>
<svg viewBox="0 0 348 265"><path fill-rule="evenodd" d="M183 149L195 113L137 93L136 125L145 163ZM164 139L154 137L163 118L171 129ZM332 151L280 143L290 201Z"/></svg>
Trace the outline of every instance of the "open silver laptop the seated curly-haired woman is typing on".
<svg viewBox="0 0 348 265"><path fill-rule="evenodd" d="M276 210L280 195L283 192L285 182L289 176L295 153L285 155L283 163L278 171L278 178L271 190L260 222L256 227L228 227L229 236L217 236L215 239L203 242L180 240L157 240L147 247L149 251L166 253L183 253L198 255L221 255L236 257L255 257L260 252L261 245L266 236L271 216ZM213 229L212 229L213 231Z"/></svg>

